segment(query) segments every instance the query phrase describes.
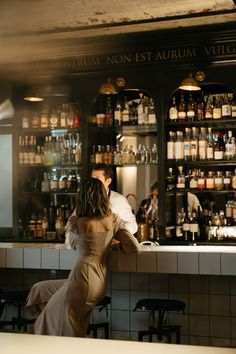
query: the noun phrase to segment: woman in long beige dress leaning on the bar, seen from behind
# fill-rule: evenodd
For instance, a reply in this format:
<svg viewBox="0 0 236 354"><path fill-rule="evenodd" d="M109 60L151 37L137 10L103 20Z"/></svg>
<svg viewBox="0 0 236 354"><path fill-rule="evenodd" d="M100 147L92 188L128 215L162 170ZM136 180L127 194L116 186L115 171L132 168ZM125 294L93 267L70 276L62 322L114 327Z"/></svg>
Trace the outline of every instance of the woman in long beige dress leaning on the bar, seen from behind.
<svg viewBox="0 0 236 354"><path fill-rule="evenodd" d="M119 241L123 252L139 251L137 239L111 212L99 179L88 178L82 184L76 214L77 229L69 242L78 250L78 260L37 318L36 334L85 337L90 314L105 296L106 256L112 239Z"/></svg>

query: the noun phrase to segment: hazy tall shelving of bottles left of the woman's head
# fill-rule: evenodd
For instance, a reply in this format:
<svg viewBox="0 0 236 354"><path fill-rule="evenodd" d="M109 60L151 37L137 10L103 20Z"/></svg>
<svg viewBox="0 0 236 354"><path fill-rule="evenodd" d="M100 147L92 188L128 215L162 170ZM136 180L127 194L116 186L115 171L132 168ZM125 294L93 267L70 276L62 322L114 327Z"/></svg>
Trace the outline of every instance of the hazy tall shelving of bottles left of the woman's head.
<svg viewBox="0 0 236 354"><path fill-rule="evenodd" d="M81 124L74 104L25 110L19 127L19 238L64 241L81 180Z"/></svg>

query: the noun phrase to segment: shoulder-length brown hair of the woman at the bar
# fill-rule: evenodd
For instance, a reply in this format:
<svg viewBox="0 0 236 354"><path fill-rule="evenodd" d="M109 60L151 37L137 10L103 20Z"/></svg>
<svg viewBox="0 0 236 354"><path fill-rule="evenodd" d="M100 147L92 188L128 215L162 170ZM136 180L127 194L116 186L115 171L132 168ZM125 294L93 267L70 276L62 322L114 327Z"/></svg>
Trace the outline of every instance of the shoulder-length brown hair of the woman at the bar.
<svg viewBox="0 0 236 354"><path fill-rule="evenodd" d="M103 183L93 177L85 179L79 191L76 215L104 217L109 213L110 202Z"/></svg>

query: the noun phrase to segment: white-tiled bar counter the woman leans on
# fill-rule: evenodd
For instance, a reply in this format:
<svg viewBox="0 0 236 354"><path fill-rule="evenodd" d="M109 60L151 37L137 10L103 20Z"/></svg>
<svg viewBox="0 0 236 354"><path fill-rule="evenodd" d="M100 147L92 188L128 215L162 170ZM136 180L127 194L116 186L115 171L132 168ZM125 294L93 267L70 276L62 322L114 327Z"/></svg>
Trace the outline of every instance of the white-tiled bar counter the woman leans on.
<svg viewBox="0 0 236 354"><path fill-rule="evenodd" d="M69 270L76 251L56 243L0 243L0 267ZM110 251L112 272L236 275L235 246L140 246L138 254Z"/></svg>

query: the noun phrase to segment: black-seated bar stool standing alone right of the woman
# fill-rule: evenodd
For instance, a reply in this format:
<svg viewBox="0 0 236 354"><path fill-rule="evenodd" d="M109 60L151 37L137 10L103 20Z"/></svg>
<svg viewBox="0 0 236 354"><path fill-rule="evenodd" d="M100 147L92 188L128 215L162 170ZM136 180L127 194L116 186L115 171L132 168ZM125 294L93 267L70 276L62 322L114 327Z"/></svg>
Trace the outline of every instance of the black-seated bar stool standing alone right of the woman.
<svg viewBox="0 0 236 354"><path fill-rule="evenodd" d="M171 343L172 334L175 334L176 343L180 343L181 325L166 325L165 314L170 311L184 313L186 304L180 300L174 299L141 299L136 303L134 311L148 311L151 317L151 325L147 330L138 331L138 340L143 341L143 337L148 335L149 342L152 342L153 335L157 336L158 341L163 337L167 338L168 343ZM158 321L155 325L155 313L158 312Z"/></svg>

